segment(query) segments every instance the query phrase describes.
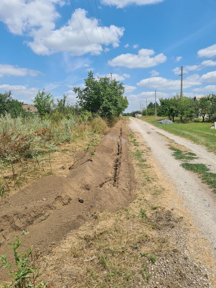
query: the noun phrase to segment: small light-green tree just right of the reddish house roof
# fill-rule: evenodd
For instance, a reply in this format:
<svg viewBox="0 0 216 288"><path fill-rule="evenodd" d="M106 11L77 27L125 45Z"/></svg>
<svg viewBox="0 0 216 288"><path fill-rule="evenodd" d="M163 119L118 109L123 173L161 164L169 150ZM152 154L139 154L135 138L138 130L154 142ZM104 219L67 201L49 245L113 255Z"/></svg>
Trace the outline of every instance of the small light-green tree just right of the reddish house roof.
<svg viewBox="0 0 216 288"><path fill-rule="evenodd" d="M43 89L42 91L38 90L33 103L35 104L38 113L41 116L45 116L46 114L51 114L54 99L50 92L45 92Z"/></svg>

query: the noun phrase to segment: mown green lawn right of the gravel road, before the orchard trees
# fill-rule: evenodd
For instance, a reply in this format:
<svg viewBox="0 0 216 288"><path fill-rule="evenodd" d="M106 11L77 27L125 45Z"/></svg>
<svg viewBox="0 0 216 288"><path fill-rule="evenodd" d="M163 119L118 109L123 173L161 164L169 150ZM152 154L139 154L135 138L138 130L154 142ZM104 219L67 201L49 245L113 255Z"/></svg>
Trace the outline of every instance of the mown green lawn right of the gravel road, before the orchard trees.
<svg viewBox="0 0 216 288"><path fill-rule="evenodd" d="M167 117L143 116L139 119L149 122L150 124L173 133L177 136L184 137L194 143L204 145L209 151L216 154L216 130L210 129L213 123L210 122L188 122L181 123L176 120L174 124L156 124L155 122Z"/></svg>

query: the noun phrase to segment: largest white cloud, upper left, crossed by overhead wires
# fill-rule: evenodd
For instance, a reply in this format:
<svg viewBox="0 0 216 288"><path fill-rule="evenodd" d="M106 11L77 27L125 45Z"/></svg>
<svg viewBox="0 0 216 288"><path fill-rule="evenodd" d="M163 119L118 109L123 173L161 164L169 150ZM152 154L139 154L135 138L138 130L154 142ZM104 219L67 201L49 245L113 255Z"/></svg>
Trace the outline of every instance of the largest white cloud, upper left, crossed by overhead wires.
<svg viewBox="0 0 216 288"><path fill-rule="evenodd" d="M124 28L115 25L103 26L104 41L98 20L88 18L87 11L81 8L76 10L79 20L73 13L66 24L55 29L55 22L60 18L56 6L64 4L65 1L62 0L1 0L0 20L7 25L11 33L31 38L32 41L25 41L25 43L38 55L50 55L61 51L68 51L74 56L93 53L79 20L95 54L100 54L103 48L94 21L102 44L106 42L113 47L119 46Z"/></svg>

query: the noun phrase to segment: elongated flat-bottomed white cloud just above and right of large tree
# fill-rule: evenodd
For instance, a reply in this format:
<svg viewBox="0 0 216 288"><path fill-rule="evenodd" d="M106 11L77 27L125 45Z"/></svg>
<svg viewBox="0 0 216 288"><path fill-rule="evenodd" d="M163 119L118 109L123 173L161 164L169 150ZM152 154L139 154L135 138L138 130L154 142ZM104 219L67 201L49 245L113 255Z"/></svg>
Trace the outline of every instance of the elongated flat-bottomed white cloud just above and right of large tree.
<svg viewBox="0 0 216 288"><path fill-rule="evenodd" d="M166 61L166 56L161 53L156 56L154 50L141 49L138 54L121 54L111 60L112 66L127 68L149 68Z"/></svg>

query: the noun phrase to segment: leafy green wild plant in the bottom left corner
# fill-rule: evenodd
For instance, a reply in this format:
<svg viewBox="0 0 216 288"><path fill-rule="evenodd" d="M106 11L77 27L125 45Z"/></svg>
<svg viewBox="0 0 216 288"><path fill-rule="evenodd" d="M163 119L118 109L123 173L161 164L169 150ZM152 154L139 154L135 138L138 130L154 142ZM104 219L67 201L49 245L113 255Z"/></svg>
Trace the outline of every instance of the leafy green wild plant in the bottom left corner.
<svg viewBox="0 0 216 288"><path fill-rule="evenodd" d="M22 231L19 236L15 236L15 241L9 243L11 249L14 251L14 265L8 262L7 255L0 256L0 267L5 268L11 276L11 282L8 285L0 284L4 288L46 288L47 285L43 281L37 282L39 277L39 269L35 267L32 249L29 249L20 254L18 249L24 242L20 241L20 236L28 234L29 232Z"/></svg>

